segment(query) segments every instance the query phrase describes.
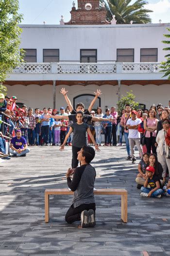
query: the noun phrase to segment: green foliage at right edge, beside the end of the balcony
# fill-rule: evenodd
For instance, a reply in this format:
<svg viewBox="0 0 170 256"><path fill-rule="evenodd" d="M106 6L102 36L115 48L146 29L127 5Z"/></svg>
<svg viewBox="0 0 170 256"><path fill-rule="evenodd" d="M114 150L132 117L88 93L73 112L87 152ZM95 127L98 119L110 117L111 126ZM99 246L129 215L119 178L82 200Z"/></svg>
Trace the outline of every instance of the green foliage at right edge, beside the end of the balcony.
<svg viewBox="0 0 170 256"><path fill-rule="evenodd" d="M168 31L170 31L170 28L167 29ZM164 37L169 39L170 34L164 35ZM162 42L170 45L170 40L164 40ZM170 47L163 48L163 50L170 51ZM167 59L167 61L163 61L161 65L162 72L165 72L165 75L163 77L168 77L168 79L170 79L170 53L165 55L165 58Z"/></svg>

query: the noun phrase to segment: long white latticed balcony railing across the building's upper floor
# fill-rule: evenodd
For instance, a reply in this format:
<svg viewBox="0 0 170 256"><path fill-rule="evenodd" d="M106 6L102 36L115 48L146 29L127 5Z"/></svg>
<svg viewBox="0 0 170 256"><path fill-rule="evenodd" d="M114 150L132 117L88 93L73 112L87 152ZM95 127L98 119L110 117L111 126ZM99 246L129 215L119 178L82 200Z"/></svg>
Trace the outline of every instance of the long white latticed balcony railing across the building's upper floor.
<svg viewBox="0 0 170 256"><path fill-rule="evenodd" d="M13 73L17 74L114 74L158 73L160 62L51 62L21 63Z"/></svg>

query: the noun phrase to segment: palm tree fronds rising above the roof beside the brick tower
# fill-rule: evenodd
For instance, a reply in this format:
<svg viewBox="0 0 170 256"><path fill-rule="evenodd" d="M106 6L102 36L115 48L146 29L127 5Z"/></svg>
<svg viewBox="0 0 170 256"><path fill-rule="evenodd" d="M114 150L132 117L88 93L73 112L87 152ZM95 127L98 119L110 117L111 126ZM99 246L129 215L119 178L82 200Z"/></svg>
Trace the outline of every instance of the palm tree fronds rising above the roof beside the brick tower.
<svg viewBox="0 0 170 256"><path fill-rule="evenodd" d="M136 0L132 4L132 0L100 0L105 3L107 10L107 20L112 20L115 15L117 24L133 23L151 23L151 18L148 13L153 12L144 8L148 2L146 0Z"/></svg>

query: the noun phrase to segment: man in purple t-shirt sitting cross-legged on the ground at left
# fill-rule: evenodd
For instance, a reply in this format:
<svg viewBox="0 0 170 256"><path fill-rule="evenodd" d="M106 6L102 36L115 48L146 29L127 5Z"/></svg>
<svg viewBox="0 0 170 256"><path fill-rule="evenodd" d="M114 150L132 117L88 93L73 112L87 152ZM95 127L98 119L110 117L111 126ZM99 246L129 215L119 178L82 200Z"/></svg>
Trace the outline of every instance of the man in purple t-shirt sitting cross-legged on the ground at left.
<svg viewBox="0 0 170 256"><path fill-rule="evenodd" d="M21 137L21 130L17 130L16 135L11 140L10 153L12 157L26 157L26 154L30 152L26 139Z"/></svg>

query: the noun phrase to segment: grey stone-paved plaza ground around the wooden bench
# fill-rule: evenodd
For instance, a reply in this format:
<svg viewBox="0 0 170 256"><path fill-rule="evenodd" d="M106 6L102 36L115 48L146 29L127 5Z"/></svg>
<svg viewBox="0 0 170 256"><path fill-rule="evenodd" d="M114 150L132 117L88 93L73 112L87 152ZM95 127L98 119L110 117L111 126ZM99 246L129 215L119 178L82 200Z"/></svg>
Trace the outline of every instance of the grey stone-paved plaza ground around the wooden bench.
<svg viewBox="0 0 170 256"><path fill-rule="evenodd" d="M0 162L0 256L3 255L170 255L170 198L140 198L137 163L126 161L124 147L102 147L93 166L96 188L128 191L128 223L120 220L119 196L96 196L97 225L78 229L64 215L72 196L51 198L44 222L45 188L67 187L71 148L32 147L26 158Z"/></svg>

